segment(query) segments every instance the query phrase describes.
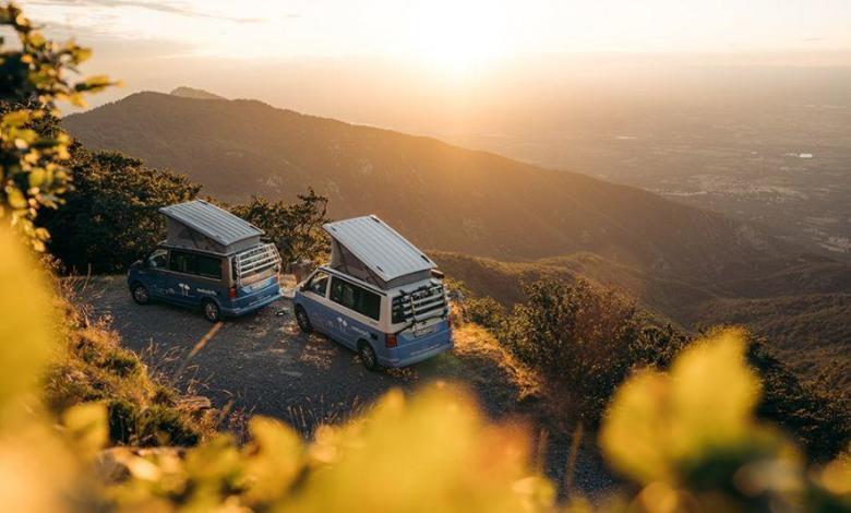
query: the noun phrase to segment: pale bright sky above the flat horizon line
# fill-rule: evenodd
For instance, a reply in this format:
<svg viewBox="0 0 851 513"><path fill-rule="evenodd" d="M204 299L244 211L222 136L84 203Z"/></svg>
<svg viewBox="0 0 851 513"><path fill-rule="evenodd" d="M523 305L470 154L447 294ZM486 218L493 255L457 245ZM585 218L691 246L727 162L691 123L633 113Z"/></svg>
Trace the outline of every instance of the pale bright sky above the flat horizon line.
<svg viewBox="0 0 851 513"><path fill-rule="evenodd" d="M240 58L403 55L453 67L525 52L851 49L849 0L21 3L84 41Z"/></svg>

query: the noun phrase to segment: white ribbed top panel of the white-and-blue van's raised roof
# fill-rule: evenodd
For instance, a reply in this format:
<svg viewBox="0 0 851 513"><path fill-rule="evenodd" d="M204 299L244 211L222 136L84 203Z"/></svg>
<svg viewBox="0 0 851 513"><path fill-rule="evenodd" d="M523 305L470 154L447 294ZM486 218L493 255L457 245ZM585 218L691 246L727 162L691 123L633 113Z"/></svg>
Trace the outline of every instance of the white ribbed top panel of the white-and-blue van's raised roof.
<svg viewBox="0 0 851 513"><path fill-rule="evenodd" d="M328 223L323 228L385 282L438 266L374 215Z"/></svg>

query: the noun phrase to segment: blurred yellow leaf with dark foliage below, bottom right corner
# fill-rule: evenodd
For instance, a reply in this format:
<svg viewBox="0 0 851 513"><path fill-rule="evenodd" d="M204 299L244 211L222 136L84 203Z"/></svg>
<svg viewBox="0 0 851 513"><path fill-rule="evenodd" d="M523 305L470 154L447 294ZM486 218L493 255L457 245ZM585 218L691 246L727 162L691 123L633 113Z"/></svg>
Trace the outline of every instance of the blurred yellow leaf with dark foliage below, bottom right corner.
<svg viewBox="0 0 851 513"><path fill-rule="evenodd" d="M602 426L611 464L642 488L638 511L840 511L851 466L806 474L801 454L753 415L760 383L745 336L721 332L683 351L670 373L645 370L621 387Z"/></svg>

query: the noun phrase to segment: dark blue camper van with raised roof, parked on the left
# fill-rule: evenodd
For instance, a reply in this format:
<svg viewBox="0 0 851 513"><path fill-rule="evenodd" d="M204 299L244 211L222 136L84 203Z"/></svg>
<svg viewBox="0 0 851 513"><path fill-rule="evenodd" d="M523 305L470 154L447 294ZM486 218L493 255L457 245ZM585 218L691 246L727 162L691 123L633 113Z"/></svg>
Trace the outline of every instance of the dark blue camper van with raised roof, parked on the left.
<svg viewBox="0 0 851 513"><path fill-rule="evenodd" d="M280 256L263 230L205 201L166 206L168 237L128 272L140 305L160 300L200 309L211 322L255 311L281 297Z"/></svg>

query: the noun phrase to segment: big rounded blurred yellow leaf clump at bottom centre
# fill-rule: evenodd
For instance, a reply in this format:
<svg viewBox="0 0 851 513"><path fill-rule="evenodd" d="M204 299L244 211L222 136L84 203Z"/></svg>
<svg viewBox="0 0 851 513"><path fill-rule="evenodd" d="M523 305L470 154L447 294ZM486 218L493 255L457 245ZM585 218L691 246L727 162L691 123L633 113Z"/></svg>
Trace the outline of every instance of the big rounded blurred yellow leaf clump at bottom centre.
<svg viewBox="0 0 851 513"><path fill-rule="evenodd" d="M525 431L488 425L455 387L431 386L410 401L391 392L364 418L326 428L316 444L323 446L320 454L335 454L334 463L307 478L287 511L500 512L552 505L551 485L530 465Z"/></svg>

